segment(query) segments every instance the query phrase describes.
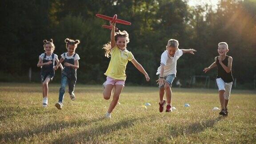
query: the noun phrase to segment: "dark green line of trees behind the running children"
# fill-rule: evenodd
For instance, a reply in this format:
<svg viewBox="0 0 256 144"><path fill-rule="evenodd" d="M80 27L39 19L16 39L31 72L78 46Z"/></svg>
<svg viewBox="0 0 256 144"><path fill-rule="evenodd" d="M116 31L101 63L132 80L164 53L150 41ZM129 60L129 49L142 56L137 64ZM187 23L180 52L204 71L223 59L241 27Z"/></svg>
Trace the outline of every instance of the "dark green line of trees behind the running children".
<svg viewBox="0 0 256 144"><path fill-rule="evenodd" d="M96 13L130 21L131 26L116 24L129 33L128 50L133 53L151 77L144 76L131 63L127 66L127 83L156 85L156 70L161 53L169 39L179 40L180 48L194 48L195 56L185 55L177 62L177 79L188 86L195 75L215 79L216 69L204 74L214 57L217 44L228 43L233 57L233 76L240 88L253 88L256 75L256 1L220 0L216 9L211 5L191 7L186 0L1 0L0 81L39 82L36 67L44 52L43 40L52 38L55 53L65 49L65 38L81 41L76 52L80 56L78 83L101 84L108 68L103 44L110 40L109 24ZM60 57L59 57L60 58ZM55 82L60 80L56 72Z"/></svg>

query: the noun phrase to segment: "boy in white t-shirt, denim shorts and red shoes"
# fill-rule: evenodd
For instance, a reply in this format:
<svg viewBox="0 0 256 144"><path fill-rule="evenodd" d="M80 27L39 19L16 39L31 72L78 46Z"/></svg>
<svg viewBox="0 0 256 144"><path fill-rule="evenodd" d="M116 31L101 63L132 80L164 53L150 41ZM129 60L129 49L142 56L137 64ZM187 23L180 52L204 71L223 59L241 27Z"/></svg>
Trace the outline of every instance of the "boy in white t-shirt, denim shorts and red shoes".
<svg viewBox="0 0 256 144"><path fill-rule="evenodd" d="M156 75L159 75L159 79L157 84L159 84L159 111L163 112L164 104L166 100L164 100L164 91L166 92L167 98L167 106L165 112L172 112L172 82L176 77L176 64L177 60L183 53L191 53L194 54L196 50L194 49L179 49L178 40L168 40L168 44L166 46L166 51L164 51L161 55L161 64L157 69Z"/></svg>

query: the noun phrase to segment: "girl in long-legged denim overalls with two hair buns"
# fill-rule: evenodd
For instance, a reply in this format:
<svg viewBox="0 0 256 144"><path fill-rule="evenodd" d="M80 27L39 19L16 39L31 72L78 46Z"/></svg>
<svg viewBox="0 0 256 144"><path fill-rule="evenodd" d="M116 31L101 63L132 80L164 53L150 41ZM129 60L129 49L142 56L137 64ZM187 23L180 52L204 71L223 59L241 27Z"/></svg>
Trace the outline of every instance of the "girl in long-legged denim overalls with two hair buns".
<svg viewBox="0 0 256 144"><path fill-rule="evenodd" d="M63 98L65 93L65 87L68 83L68 93L70 95L71 100L75 100L74 88L76 85L76 69L79 68L78 60L80 57L75 50L77 45L80 43L79 40L70 40L66 39L66 48L68 52L65 52L61 55L61 59L58 64L54 67L58 68L59 64L64 61L64 69L61 73L61 86L60 86L60 94L59 94L59 102L55 104L56 108L62 109L63 107Z"/></svg>

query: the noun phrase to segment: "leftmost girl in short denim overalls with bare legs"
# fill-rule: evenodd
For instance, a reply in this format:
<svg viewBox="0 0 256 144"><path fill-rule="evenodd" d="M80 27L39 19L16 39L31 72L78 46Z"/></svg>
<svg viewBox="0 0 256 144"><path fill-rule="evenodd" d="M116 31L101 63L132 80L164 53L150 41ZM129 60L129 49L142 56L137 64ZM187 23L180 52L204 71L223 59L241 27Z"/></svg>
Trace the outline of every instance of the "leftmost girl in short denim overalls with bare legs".
<svg viewBox="0 0 256 144"><path fill-rule="evenodd" d="M54 63L55 61L58 63L58 56L53 53L55 46L53 44L53 40L50 41L44 40L44 53L39 56L39 61L37 63L37 67L41 67L41 82L43 84L43 107L47 107L48 105L48 83L54 77ZM60 68L63 69L60 64Z"/></svg>

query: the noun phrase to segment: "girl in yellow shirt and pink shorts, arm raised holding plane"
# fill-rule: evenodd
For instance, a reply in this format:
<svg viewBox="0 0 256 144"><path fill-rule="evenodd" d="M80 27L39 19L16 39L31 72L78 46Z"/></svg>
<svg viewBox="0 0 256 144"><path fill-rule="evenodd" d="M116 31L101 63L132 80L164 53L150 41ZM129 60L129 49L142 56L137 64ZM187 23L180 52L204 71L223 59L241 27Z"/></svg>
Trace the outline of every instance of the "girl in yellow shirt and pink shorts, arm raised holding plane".
<svg viewBox="0 0 256 144"><path fill-rule="evenodd" d="M147 81L150 80L148 73L144 68L138 63L132 52L129 52L126 49L126 45L129 43L129 35L126 31L115 32L115 23L110 23L111 30L111 42L104 45L106 51L105 56L109 57L111 55L111 60L108 65L107 71L104 75L107 76L107 80L103 84L104 99L109 100L112 95L112 89L115 87L115 92L113 95L113 100L111 101L108 112L106 113L106 118L111 118L111 112L116 107L116 104L119 100L120 93L124 88L124 82L126 79L125 69L128 61L131 61L132 64L145 75Z"/></svg>

